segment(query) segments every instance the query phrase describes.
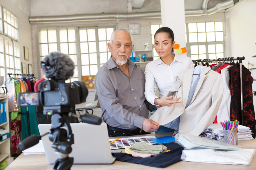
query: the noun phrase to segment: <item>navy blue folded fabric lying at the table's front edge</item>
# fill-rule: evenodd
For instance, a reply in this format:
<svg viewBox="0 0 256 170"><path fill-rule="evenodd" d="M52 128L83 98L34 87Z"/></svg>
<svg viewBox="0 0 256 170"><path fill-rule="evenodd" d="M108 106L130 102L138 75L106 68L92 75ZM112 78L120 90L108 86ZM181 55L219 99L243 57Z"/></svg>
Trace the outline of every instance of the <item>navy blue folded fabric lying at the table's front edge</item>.
<svg viewBox="0 0 256 170"><path fill-rule="evenodd" d="M112 155L119 161L141 164L156 168L165 168L169 165L181 161L180 157L182 155L182 150L184 150L182 146L178 145L177 143L164 143L162 145L166 146L167 149L171 151L164 152L149 158L137 158L126 153L112 153Z"/></svg>

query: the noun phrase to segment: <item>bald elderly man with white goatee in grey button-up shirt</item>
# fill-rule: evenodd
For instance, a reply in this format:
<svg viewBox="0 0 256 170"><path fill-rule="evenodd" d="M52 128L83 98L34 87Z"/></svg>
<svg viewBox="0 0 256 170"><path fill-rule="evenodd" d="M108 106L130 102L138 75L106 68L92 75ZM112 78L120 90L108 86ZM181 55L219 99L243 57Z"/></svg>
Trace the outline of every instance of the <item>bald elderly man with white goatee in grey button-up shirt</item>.
<svg viewBox="0 0 256 170"><path fill-rule="evenodd" d="M144 96L145 75L128 60L133 50L127 30L115 30L108 43L111 57L97 72L95 89L100 100L102 119L109 136L129 136L155 132L158 123L148 119ZM142 129L142 130L141 130Z"/></svg>

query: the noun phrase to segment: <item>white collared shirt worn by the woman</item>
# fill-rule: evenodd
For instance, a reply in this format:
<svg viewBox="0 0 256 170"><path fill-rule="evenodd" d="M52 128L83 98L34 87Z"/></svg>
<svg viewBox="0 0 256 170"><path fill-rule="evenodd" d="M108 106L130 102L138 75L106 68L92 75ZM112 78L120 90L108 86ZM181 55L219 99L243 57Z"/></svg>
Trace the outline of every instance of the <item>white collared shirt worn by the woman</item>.
<svg viewBox="0 0 256 170"><path fill-rule="evenodd" d="M155 105L154 100L158 98L155 95L155 83L161 98L171 87L179 72L189 68L193 68L191 58L179 56L178 54L175 54L174 60L170 65L164 64L160 57L149 62L145 68L145 97L148 102Z"/></svg>

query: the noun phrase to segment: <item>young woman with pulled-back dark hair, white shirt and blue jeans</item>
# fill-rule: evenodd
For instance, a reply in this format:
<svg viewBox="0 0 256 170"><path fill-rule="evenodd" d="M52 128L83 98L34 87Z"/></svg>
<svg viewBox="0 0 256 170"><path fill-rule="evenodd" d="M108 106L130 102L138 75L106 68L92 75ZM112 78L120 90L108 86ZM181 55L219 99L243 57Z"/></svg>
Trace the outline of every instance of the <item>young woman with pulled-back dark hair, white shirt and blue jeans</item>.
<svg viewBox="0 0 256 170"><path fill-rule="evenodd" d="M193 67L190 57L184 57L173 52L175 44L174 33L168 27L159 28L154 35L155 50L159 58L146 65L145 97L152 105L170 106L180 98L162 97L173 84L175 77L182 70ZM155 83L159 89L159 98L155 95ZM168 127L160 126L156 133L173 132L179 129L179 119L168 123Z"/></svg>

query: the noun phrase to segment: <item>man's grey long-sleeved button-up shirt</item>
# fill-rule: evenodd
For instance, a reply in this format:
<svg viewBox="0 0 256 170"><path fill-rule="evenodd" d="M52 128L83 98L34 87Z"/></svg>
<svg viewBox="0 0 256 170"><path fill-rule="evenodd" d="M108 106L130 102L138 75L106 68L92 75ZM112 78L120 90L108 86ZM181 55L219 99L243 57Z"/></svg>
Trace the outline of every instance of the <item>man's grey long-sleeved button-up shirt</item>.
<svg viewBox="0 0 256 170"><path fill-rule="evenodd" d="M145 104L145 75L128 59L129 77L110 57L95 77L95 89L102 109L102 120L122 129L142 128L148 118Z"/></svg>

